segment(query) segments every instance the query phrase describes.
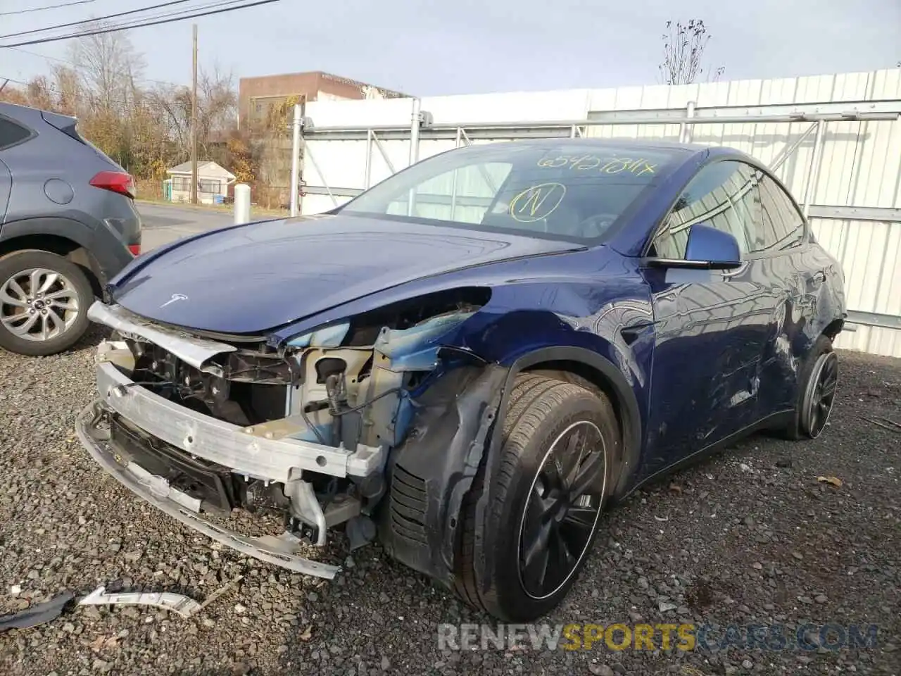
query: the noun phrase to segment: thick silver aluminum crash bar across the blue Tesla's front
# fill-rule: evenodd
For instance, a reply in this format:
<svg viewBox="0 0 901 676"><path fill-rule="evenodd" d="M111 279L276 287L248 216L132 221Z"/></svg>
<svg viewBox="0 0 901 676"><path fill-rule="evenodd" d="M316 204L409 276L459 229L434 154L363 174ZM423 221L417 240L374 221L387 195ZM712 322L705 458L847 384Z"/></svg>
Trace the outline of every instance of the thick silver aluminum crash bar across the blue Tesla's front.
<svg viewBox="0 0 901 676"><path fill-rule="evenodd" d="M380 470L382 449L358 444L354 452L290 437L266 438L179 406L136 386L112 363L97 364L97 390L106 407L130 424L198 458L254 479L287 482L299 470L334 477L366 477Z"/></svg>

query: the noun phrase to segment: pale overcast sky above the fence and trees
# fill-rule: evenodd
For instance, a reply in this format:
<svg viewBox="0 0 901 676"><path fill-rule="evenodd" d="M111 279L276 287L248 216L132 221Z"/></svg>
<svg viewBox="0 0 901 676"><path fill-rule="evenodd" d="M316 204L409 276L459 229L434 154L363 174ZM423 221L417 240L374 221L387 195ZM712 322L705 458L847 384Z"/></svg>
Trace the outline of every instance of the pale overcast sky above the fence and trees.
<svg viewBox="0 0 901 676"><path fill-rule="evenodd" d="M0 0L0 34L163 0L2 14L65 1ZM157 12L198 4L208 3ZM723 66L724 79L886 69L901 60L901 0L281 0L196 22L201 65L218 63L236 78L325 70L433 96L654 84L664 24L690 18L708 26L705 66ZM146 59L146 78L190 82L189 21L130 35ZM65 42L22 49L66 56ZM41 56L0 49L0 82L27 80L48 66Z"/></svg>

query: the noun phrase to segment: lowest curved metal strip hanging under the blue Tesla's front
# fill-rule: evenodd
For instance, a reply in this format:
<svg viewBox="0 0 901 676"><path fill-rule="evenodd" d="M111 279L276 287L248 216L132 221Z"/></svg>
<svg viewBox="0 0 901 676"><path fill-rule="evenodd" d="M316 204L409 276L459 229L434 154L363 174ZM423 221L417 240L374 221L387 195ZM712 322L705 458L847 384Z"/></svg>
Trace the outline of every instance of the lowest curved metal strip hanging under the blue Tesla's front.
<svg viewBox="0 0 901 676"><path fill-rule="evenodd" d="M150 475L149 472L142 470L133 462L128 465L120 464L116 461L114 447L104 438L105 431L97 427L102 406L103 399L98 398L77 417L78 440L97 464L138 497L198 533L205 534L207 537L259 559L259 561L328 580L334 578L341 570L338 566L299 556L296 552L301 546L301 541L291 534L284 533L278 536L255 538L216 525L197 511L199 501L186 493L173 489L162 477Z"/></svg>

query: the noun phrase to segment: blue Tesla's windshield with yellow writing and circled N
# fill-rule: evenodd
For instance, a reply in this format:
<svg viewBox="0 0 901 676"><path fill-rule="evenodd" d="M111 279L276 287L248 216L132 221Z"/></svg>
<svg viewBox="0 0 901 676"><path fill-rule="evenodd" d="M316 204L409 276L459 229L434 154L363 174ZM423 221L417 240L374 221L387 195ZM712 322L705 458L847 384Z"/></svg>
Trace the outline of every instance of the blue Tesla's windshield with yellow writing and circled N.
<svg viewBox="0 0 901 676"><path fill-rule="evenodd" d="M505 142L441 153L338 211L487 232L603 242L684 157L641 145Z"/></svg>

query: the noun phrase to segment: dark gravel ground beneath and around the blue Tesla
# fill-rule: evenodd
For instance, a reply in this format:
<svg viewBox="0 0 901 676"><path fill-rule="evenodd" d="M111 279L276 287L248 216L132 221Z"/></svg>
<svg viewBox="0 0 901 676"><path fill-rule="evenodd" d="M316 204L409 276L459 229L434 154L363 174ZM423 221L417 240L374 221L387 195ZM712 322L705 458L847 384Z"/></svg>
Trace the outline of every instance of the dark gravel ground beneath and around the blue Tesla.
<svg viewBox="0 0 901 676"><path fill-rule="evenodd" d="M112 580L203 600L243 578L190 620L81 607L0 634L4 674L901 671L901 435L861 419L901 421L899 360L843 352L841 395L820 439L751 438L612 511L566 606L548 618L876 624L877 647L654 653L602 642L587 652L460 652L439 649L436 626L487 618L378 546L354 553L333 582L302 579L214 546L106 478L73 432L93 396L96 340L43 359L0 353L0 614ZM345 558L345 547L332 557Z"/></svg>

